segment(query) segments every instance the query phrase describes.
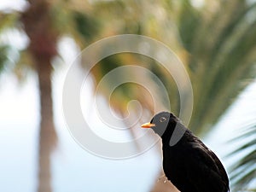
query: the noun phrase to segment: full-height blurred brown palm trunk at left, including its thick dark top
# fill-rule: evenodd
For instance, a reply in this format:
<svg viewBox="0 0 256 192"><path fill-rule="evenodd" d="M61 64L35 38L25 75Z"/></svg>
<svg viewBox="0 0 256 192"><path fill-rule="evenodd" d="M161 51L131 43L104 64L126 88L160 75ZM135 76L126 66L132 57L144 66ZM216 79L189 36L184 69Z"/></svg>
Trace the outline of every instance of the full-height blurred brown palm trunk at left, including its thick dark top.
<svg viewBox="0 0 256 192"><path fill-rule="evenodd" d="M51 97L51 60L55 57L57 34L50 18L47 0L29 0L30 6L21 15L21 22L30 38L29 51L38 73L40 96L40 131L38 148L38 192L51 192L50 154L55 147L56 133Z"/></svg>

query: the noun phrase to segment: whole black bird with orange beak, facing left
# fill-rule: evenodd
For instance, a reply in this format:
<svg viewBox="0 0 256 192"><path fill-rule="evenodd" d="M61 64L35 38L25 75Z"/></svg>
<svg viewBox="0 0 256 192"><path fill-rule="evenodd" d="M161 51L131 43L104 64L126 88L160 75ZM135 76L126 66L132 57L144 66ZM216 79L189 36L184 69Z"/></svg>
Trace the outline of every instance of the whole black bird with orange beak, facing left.
<svg viewBox="0 0 256 192"><path fill-rule="evenodd" d="M181 192L228 192L229 178L216 154L175 115L156 114L143 128L162 138L163 169Z"/></svg>

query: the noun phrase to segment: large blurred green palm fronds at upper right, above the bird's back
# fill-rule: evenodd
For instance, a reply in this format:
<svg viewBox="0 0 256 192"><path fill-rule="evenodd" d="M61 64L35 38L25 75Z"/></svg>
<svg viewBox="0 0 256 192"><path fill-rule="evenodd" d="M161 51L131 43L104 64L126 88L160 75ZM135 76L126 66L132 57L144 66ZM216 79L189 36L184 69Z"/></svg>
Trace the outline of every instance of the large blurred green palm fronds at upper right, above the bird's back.
<svg viewBox="0 0 256 192"><path fill-rule="evenodd" d="M183 8L187 15L180 16L179 30L189 51L188 66L195 90L190 128L196 133L209 131L248 79L255 76L256 21L247 18L255 11L254 6L245 1L225 1L207 17L203 12L189 11L194 9L190 5Z"/></svg>

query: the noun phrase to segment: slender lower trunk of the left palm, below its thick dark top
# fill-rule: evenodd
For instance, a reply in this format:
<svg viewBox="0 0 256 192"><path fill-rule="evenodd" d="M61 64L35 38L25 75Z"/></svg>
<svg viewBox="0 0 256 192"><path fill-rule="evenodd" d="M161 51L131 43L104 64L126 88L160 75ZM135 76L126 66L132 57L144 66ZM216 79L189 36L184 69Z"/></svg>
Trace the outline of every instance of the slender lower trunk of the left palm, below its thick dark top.
<svg viewBox="0 0 256 192"><path fill-rule="evenodd" d="M38 61L41 122L38 152L38 192L51 192L50 154L56 143L51 97L51 65Z"/></svg>

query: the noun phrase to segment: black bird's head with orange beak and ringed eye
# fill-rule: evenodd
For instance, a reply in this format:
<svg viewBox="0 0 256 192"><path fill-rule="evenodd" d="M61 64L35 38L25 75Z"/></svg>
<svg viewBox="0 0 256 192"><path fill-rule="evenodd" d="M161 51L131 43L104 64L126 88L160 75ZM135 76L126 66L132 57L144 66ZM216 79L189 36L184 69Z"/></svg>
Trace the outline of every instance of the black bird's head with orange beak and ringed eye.
<svg viewBox="0 0 256 192"><path fill-rule="evenodd" d="M149 123L143 124L143 128L151 128L160 137L168 130L172 134L179 120L169 112L160 112L154 115Z"/></svg>

